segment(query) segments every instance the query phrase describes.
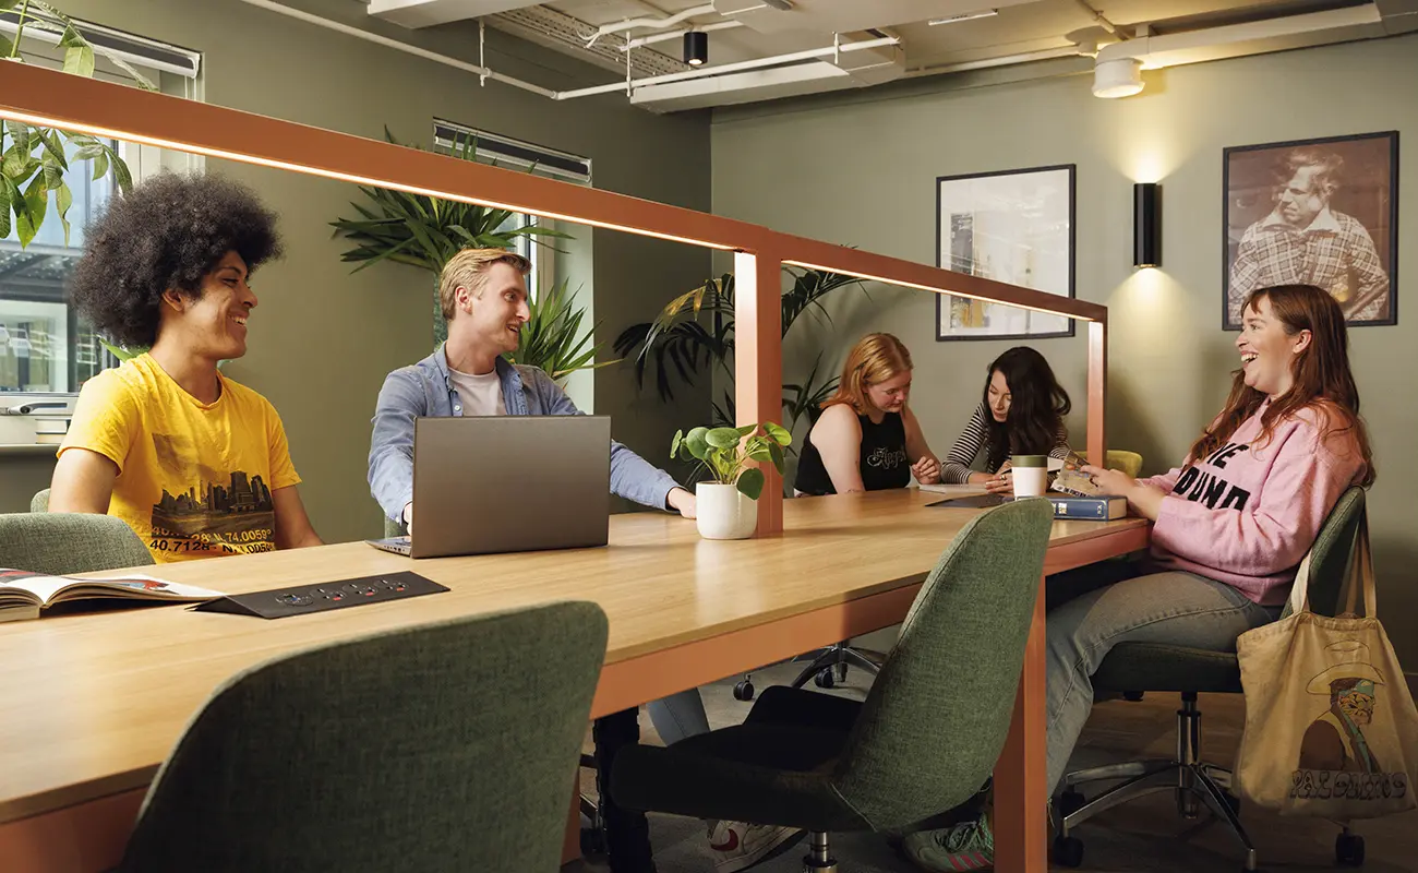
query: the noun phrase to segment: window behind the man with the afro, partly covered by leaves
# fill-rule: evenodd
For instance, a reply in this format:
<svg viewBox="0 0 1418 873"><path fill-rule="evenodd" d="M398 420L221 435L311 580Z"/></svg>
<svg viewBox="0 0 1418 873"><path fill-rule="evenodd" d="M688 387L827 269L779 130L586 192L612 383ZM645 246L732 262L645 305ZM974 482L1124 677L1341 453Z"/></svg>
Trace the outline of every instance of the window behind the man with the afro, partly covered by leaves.
<svg viewBox="0 0 1418 873"><path fill-rule="evenodd" d="M0 13L0 34L13 38L16 13ZM75 21L98 50L116 54L133 72L163 92L201 99L197 78L200 55L112 28ZM61 68L58 35L27 27L21 53L28 64ZM95 58L95 78L136 84L132 72L112 62L104 51ZM135 183L162 169L200 169L201 159L150 146L109 141L128 165ZM43 146L37 146L38 150ZM65 287L74 264L84 253L84 229L102 213L113 196L112 173L94 179L92 160L74 160L64 182L74 193L69 207L69 238L54 216L54 199L40 233L20 248L14 229L0 240L0 406L16 406L21 395L75 393L86 379L118 361L109 355L92 328L69 308Z"/></svg>

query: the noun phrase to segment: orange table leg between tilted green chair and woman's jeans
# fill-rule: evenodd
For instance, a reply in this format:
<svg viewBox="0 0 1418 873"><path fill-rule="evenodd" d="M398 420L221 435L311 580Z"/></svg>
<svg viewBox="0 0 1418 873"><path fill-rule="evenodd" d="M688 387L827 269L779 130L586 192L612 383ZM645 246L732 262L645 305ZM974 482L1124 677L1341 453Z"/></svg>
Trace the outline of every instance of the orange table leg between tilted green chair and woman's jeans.
<svg viewBox="0 0 1418 873"><path fill-rule="evenodd" d="M1045 745L1044 586L1034 603L1010 735L994 768L994 869L1048 870L1048 751Z"/></svg>

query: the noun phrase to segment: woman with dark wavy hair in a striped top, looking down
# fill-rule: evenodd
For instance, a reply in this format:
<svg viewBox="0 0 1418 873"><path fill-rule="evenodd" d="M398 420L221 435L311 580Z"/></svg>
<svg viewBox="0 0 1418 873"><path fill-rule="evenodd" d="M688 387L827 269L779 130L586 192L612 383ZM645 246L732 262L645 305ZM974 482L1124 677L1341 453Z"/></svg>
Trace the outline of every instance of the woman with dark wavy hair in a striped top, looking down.
<svg viewBox="0 0 1418 873"><path fill-rule="evenodd" d="M1073 407L1044 355L1015 346L990 363L980 406L946 456L940 481L1014 491L1010 456L1068 457L1064 416ZM984 473L970 468L984 449Z"/></svg>

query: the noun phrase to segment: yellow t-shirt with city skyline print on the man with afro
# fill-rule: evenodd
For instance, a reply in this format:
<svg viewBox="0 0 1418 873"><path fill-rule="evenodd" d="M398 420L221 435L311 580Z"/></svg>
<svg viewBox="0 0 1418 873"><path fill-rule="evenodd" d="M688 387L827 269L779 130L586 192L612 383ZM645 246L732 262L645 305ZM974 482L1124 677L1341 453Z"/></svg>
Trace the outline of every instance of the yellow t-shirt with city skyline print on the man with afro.
<svg viewBox="0 0 1418 873"><path fill-rule="evenodd" d="M271 402L225 376L216 403L139 355L84 383L60 447L118 464L108 514L159 564L275 549L271 493L301 481Z"/></svg>

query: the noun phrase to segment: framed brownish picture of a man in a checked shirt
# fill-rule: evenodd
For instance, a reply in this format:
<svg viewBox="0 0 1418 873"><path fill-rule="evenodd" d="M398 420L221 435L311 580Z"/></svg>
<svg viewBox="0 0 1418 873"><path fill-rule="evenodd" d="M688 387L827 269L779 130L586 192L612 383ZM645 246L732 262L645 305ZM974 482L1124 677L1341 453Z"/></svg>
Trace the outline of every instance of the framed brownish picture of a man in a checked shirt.
<svg viewBox="0 0 1418 873"><path fill-rule="evenodd" d="M1307 284L1351 326L1398 324L1398 132L1234 146L1222 153L1221 326L1246 295Z"/></svg>

